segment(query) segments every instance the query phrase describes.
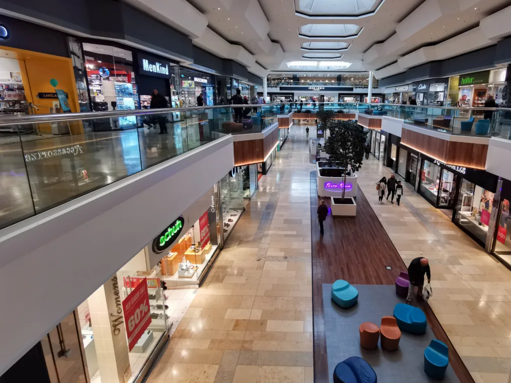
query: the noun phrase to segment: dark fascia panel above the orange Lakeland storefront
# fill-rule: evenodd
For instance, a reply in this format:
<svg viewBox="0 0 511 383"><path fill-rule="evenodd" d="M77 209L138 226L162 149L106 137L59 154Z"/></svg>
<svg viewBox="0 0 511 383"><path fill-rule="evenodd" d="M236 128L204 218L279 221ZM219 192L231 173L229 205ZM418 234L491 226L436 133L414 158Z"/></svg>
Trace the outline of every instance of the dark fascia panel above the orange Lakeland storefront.
<svg viewBox="0 0 511 383"><path fill-rule="evenodd" d="M2 23L9 29L11 36L7 40L0 40L0 46L68 57L67 37L64 33L7 16L2 16Z"/></svg>

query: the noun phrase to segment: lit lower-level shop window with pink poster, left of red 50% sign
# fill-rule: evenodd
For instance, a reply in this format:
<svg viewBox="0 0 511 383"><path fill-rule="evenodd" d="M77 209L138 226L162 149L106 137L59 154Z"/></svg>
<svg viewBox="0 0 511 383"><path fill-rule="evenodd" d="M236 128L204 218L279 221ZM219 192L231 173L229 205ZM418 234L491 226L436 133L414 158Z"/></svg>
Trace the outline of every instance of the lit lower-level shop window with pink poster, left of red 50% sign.
<svg viewBox="0 0 511 383"><path fill-rule="evenodd" d="M462 179L454 221L485 244L492 204L492 192Z"/></svg>

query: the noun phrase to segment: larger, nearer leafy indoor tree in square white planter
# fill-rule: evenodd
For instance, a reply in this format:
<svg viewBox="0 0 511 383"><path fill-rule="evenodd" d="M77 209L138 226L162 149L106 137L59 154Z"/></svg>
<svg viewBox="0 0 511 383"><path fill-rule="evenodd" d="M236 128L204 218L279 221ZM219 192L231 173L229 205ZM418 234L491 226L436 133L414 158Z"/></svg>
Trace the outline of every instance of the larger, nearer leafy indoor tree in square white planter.
<svg viewBox="0 0 511 383"><path fill-rule="evenodd" d="M325 151L330 155L330 161L339 162L344 167L341 196L344 200L346 172L348 167L357 172L362 166L367 131L352 119L332 122L329 129Z"/></svg>

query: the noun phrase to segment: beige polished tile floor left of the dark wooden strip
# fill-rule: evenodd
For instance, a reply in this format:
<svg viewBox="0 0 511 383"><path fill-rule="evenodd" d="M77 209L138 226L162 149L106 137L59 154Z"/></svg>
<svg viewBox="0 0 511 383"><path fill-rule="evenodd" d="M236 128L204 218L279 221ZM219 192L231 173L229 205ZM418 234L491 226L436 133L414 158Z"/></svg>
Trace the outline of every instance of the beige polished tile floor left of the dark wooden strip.
<svg viewBox="0 0 511 383"><path fill-rule="evenodd" d="M149 383L312 383L314 169L291 130Z"/></svg>

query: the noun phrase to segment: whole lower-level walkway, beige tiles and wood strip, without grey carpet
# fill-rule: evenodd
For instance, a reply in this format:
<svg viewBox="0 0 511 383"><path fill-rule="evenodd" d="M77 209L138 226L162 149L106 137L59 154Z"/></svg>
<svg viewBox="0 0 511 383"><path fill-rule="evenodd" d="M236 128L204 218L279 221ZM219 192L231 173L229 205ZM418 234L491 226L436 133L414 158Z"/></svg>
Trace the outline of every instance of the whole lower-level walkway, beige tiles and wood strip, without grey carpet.
<svg viewBox="0 0 511 383"><path fill-rule="evenodd" d="M451 364L459 380L507 382L511 272L409 185L401 206L378 204L375 183L391 171L374 157L358 173L363 227L329 217L319 237L305 128L291 128L206 282L187 293L184 317L147 381L327 382L317 284L339 275L358 284L392 284L411 259L425 256L434 294L424 306L428 322L437 338L443 334L455 347L459 356ZM364 242L363 251L348 258L356 242ZM318 260L321 248L335 251ZM313 366L321 371L314 374Z"/></svg>

